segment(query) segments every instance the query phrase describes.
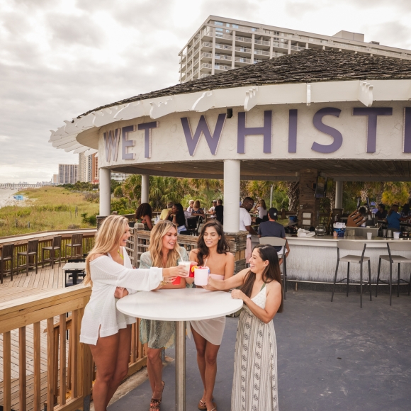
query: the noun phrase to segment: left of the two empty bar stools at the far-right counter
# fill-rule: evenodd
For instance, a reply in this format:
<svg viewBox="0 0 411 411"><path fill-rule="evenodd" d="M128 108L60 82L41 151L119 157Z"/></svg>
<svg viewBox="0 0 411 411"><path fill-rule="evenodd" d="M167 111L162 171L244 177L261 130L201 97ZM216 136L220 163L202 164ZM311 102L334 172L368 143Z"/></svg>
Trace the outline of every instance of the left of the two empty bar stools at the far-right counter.
<svg viewBox="0 0 411 411"><path fill-rule="evenodd" d="M366 246L367 244L365 242L356 242L356 241L349 241L349 240L341 240L337 241L337 267L335 269L335 276L334 276L334 286L332 287L332 294L331 294L331 302L332 299L334 298L334 290L335 290L335 284L336 283L341 283L344 280L347 280L347 297L348 297L348 287L349 287L349 264L354 263L354 264L359 264L360 265L360 307L362 308L363 306L363 284L368 283L370 286L370 301L372 301L371 297L371 262L370 262L370 257L364 257L364 252L366 251ZM344 257L339 257L339 250L340 249L349 249L349 250L356 250L356 251L362 251L361 256L359 255L352 255L352 254L347 254ZM342 278L342 280L337 281L337 273L338 273L338 265L339 261L347 262L347 277ZM363 281L363 262L368 261L368 281ZM351 285L355 285L351 283Z"/></svg>

